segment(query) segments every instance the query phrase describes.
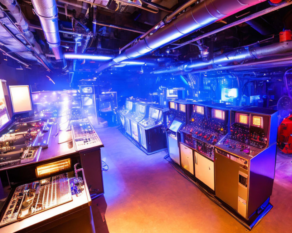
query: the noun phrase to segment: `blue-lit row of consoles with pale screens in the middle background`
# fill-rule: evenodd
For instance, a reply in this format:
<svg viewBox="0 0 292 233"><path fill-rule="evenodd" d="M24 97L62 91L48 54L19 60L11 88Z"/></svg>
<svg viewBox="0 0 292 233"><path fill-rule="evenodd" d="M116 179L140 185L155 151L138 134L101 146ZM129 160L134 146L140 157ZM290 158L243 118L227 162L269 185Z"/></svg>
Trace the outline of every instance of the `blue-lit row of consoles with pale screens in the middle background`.
<svg viewBox="0 0 292 233"><path fill-rule="evenodd" d="M164 113L167 108L138 99L127 99L118 111L121 130L147 154L167 148Z"/></svg>

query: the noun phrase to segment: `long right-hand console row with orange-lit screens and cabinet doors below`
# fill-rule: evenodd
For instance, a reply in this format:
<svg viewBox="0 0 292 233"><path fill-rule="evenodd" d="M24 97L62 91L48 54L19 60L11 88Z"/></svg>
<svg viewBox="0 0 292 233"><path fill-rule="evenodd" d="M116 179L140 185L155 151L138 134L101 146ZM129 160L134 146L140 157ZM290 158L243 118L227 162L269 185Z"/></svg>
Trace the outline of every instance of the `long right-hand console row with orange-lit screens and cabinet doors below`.
<svg viewBox="0 0 292 233"><path fill-rule="evenodd" d="M260 107L169 102L170 158L249 229L272 208L277 113Z"/></svg>

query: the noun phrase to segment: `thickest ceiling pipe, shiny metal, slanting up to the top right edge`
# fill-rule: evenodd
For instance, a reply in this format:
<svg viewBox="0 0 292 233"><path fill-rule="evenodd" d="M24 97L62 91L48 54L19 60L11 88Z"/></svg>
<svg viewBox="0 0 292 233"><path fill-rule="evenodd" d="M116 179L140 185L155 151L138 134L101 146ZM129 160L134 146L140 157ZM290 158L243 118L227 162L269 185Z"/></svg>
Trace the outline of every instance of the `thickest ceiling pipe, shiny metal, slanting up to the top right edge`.
<svg viewBox="0 0 292 233"><path fill-rule="evenodd" d="M98 72L125 59L133 59L170 44L194 31L266 0L205 0L169 24L150 33L132 47L98 68Z"/></svg>

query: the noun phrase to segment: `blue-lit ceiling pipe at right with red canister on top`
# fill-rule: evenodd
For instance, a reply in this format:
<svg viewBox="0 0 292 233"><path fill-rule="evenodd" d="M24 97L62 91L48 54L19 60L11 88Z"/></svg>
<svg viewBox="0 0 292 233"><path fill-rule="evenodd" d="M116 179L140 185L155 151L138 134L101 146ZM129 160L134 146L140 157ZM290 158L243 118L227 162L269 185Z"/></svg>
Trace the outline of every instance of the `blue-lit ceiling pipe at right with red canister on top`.
<svg viewBox="0 0 292 233"><path fill-rule="evenodd" d="M243 64L245 61L258 60L262 58L272 57L276 55L287 55L287 53L292 52L292 41L274 43L272 45L267 45L263 47L247 47L232 52L223 53L219 56L214 57L208 61L195 60L191 63L187 63L177 67L171 67L169 69L161 69L152 71L154 74L161 73L173 73L177 71L189 71L194 72L194 70L199 70L202 68L207 68L208 66L213 66L214 68L223 67L228 63ZM292 60L292 58L291 58Z"/></svg>

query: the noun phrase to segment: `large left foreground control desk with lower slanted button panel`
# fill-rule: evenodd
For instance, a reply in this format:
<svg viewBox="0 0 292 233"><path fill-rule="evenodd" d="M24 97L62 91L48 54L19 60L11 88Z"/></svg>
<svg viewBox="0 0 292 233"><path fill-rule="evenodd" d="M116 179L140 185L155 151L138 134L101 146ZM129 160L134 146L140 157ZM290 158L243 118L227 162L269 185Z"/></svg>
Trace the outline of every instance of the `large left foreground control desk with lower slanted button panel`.
<svg viewBox="0 0 292 233"><path fill-rule="evenodd" d="M106 209L100 138L79 107L35 118L0 132L0 232L95 232L91 198Z"/></svg>

